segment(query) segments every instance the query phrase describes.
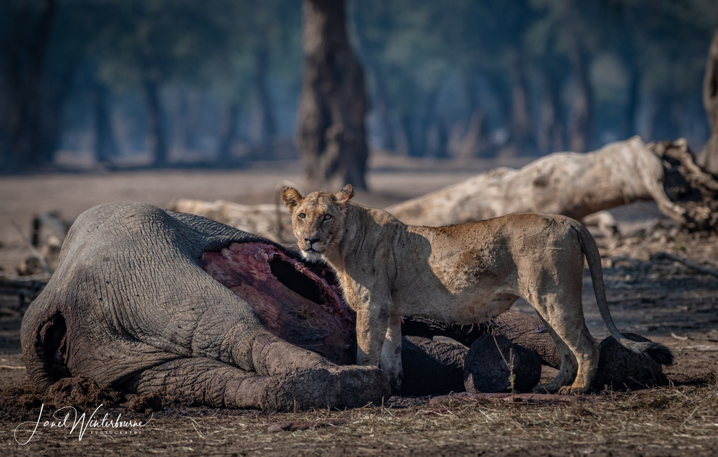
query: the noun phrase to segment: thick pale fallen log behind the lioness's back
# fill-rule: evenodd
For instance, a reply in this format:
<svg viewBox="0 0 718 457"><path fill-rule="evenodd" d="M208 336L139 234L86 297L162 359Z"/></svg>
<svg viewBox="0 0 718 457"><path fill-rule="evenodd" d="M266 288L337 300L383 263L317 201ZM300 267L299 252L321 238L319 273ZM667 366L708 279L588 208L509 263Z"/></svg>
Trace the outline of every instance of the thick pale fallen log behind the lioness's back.
<svg viewBox="0 0 718 457"><path fill-rule="evenodd" d="M388 207L411 225L451 225L511 212L577 220L639 200L689 230L717 230L718 181L694 162L685 140L646 145L634 136L588 154L560 152L521 169L498 168Z"/></svg>

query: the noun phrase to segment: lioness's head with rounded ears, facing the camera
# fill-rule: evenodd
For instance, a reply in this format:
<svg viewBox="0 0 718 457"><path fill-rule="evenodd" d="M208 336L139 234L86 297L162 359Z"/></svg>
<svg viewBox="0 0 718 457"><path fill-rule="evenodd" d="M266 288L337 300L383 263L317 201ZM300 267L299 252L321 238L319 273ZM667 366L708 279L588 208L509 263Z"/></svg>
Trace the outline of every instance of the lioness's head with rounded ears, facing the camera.
<svg viewBox="0 0 718 457"><path fill-rule="evenodd" d="M354 197L351 184L337 194L312 192L305 197L297 189L287 187L281 197L292 213L292 230L302 255L307 260L322 260L322 254L335 248L342 239L347 207Z"/></svg>

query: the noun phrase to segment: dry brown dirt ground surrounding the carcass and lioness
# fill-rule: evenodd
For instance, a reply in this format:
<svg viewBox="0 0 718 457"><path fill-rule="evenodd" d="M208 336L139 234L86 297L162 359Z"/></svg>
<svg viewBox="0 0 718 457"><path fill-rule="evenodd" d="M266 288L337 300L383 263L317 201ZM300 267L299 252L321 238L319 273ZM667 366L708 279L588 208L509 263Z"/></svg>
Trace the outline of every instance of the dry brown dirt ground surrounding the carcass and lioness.
<svg viewBox="0 0 718 457"><path fill-rule="evenodd" d="M523 160L525 163L526 160ZM522 164L517 159L511 166ZM370 193L357 201L383 207L465 179L493 164L374 159ZM0 176L0 275L14 275L32 254L32 217L56 210L72 219L104 202L139 201L166 206L179 197L274 202L281 182L302 182L293 164L251 170L169 170ZM718 454L718 237L686 234L662 220L652 204L613 211L623 236L598 238L607 296L619 329L671 348L670 385L634 392L597 392L572 402L488 398L392 397L384 405L309 413L213 410L96 404L76 410L86 418L129 421L70 430L65 405L32 394L19 343L22 308L0 294L0 446L2 455L581 455L714 456ZM675 258L666 258L669 253ZM676 260L676 258L678 260ZM687 260L687 263L686 261ZM533 312L527 303L520 311ZM607 336L584 283L587 325ZM544 369L544 378L555 371ZM516 399L514 399L516 400ZM41 413L42 405L42 413ZM133 406L133 407L131 407ZM153 411L154 409L154 411ZM51 427L52 414L58 418ZM121 418L118 419L118 416ZM38 418L40 423L32 435ZM294 421L307 430L292 428ZM21 425L21 423L24 423ZM280 424L280 425L277 425ZM67 426L65 426L67 425ZM27 445L20 443L29 440Z"/></svg>

